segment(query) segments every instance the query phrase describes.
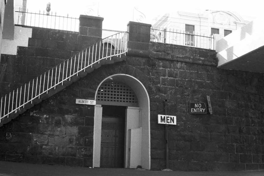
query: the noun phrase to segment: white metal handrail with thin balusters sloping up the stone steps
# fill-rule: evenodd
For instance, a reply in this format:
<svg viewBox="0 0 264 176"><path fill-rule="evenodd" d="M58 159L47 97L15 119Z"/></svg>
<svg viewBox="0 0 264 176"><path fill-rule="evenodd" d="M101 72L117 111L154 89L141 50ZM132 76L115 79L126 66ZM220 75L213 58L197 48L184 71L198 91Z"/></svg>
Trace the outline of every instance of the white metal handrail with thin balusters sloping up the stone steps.
<svg viewBox="0 0 264 176"><path fill-rule="evenodd" d="M34 99L40 98L40 95L48 94L52 88L56 89L56 86L63 85L64 81L70 81L72 76L78 76L79 72L85 71L88 67L93 67L93 64L100 63L103 59L109 58L111 60L114 56L126 55L127 34L127 32L120 32L100 40L3 96L0 106L0 123L3 118L9 118L11 113L16 113L20 108L24 108L27 103L32 103Z"/></svg>

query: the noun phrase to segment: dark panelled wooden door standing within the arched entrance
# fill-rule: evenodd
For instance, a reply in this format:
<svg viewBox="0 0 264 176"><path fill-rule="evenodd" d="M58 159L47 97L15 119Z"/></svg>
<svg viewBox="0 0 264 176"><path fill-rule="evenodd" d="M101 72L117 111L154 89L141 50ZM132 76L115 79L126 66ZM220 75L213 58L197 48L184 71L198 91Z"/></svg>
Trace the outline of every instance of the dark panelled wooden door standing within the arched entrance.
<svg viewBox="0 0 264 176"><path fill-rule="evenodd" d="M102 118L100 167L124 167L124 132L124 118Z"/></svg>

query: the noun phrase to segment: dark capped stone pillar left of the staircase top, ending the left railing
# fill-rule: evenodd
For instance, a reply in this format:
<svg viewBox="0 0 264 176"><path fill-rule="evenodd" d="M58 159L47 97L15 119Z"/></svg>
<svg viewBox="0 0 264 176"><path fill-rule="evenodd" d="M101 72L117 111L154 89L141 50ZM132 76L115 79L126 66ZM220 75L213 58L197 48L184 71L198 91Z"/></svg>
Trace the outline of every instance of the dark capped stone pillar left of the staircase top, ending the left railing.
<svg viewBox="0 0 264 176"><path fill-rule="evenodd" d="M102 22L98 16L80 15L78 43L92 45L102 40Z"/></svg>

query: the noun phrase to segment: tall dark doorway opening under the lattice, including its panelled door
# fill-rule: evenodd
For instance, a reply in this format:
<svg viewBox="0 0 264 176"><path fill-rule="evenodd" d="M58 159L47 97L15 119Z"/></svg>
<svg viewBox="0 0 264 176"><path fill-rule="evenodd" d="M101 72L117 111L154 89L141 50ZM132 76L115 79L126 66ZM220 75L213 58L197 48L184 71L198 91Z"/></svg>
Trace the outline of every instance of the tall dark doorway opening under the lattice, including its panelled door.
<svg viewBox="0 0 264 176"><path fill-rule="evenodd" d="M100 167L124 167L126 107L102 107Z"/></svg>

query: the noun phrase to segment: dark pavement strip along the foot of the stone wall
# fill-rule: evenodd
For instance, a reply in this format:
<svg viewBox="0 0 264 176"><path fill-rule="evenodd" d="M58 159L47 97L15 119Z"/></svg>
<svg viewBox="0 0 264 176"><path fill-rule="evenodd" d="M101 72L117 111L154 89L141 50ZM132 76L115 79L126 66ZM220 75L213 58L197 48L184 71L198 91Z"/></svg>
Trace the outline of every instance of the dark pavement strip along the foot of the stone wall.
<svg viewBox="0 0 264 176"><path fill-rule="evenodd" d="M184 172L88 168L0 161L0 176L264 176L264 171Z"/></svg>

